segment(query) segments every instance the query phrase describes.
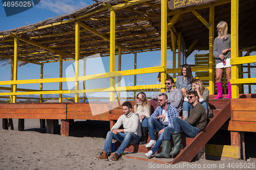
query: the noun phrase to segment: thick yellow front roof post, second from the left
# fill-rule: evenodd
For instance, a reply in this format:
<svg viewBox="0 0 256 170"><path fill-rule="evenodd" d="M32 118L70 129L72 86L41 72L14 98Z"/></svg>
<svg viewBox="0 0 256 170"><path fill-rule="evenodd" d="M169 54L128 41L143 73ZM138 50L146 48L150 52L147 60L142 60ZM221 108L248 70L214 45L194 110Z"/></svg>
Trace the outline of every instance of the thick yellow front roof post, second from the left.
<svg viewBox="0 0 256 170"><path fill-rule="evenodd" d="M79 24L75 23L75 77L79 77ZM75 91L79 90L79 81L75 81ZM75 102L79 103L79 93L75 93Z"/></svg>

